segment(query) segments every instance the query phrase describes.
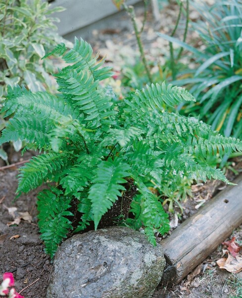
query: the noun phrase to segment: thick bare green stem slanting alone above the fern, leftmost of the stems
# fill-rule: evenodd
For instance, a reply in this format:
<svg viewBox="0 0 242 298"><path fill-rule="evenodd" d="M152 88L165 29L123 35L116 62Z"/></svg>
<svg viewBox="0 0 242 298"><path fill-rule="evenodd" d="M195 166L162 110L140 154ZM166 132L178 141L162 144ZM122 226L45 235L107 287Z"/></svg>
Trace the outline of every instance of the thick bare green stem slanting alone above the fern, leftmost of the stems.
<svg viewBox="0 0 242 298"><path fill-rule="evenodd" d="M139 50L140 50L140 53L141 53L142 62L143 62L144 67L145 67L145 72L148 76L149 82L151 83L152 82L152 77L151 77L151 74L150 74L148 66L147 66L147 61L146 61L145 53L144 53L144 47L143 47L143 44L142 44L142 41L141 41L142 31L138 30L138 26L137 26L137 23L136 23L136 20L135 20L134 7L131 6L131 5L127 6L125 3L123 4L123 6L124 6L125 10L127 11L127 13L129 14L129 16L131 18L131 21L132 21L132 24L133 24L133 27L134 27L134 30L135 30L136 40L137 40Z"/></svg>

